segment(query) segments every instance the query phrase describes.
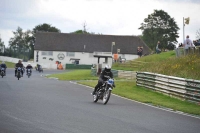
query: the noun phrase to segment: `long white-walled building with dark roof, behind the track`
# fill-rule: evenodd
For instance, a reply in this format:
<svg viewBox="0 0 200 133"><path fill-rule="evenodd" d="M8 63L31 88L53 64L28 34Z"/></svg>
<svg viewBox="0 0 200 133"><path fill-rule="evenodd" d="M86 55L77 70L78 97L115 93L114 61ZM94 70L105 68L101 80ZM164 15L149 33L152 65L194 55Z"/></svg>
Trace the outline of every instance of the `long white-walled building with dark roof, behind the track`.
<svg viewBox="0 0 200 133"><path fill-rule="evenodd" d="M137 58L138 46L143 46L143 54L150 53L146 44L136 36L38 32L34 62L47 66L55 66L56 61L63 66L72 63L92 65L98 63L99 57L100 64L110 64L112 53L117 51L118 56L126 60ZM110 58L107 60L106 57Z"/></svg>

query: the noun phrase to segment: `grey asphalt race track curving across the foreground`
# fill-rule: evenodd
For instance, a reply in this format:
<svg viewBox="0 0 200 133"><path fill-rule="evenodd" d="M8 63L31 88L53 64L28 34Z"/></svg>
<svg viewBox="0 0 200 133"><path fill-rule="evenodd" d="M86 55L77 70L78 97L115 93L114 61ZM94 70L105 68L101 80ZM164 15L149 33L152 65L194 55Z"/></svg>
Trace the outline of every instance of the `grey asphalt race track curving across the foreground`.
<svg viewBox="0 0 200 133"><path fill-rule="evenodd" d="M0 77L0 133L199 133L200 119L111 95L93 103L86 86L48 79ZM67 71L66 71L67 72ZM123 88L122 88L123 89Z"/></svg>

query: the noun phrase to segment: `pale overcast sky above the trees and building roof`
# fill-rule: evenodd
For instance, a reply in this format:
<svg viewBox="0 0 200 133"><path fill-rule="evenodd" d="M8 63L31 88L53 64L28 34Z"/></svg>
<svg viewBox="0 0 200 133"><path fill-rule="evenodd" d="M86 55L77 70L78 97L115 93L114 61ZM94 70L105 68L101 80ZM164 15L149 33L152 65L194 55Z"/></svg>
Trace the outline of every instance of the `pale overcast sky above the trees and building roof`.
<svg viewBox="0 0 200 133"><path fill-rule="evenodd" d="M32 30L48 23L70 33L83 29L106 35L140 35L138 28L153 11L164 10L177 22L183 40L183 17L190 17L185 35L196 39L200 29L200 0L0 0L0 37L6 47L12 31Z"/></svg>

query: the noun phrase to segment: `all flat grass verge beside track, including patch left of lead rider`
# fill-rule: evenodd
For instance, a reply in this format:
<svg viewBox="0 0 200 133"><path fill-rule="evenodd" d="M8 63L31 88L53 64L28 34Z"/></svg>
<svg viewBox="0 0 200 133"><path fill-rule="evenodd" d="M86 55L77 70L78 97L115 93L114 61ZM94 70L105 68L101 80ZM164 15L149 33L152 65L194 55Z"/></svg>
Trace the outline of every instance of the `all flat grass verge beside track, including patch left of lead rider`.
<svg viewBox="0 0 200 133"><path fill-rule="evenodd" d="M80 80L80 84L94 87L97 83L98 77L90 75L90 70L74 70L63 74L53 74L48 77L56 77L60 80ZM85 81L84 81L85 80ZM86 81L92 80L92 81ZM155 106L162 106L178 110L190 114L200 115L200 106L189 103L187 101L181 101L176 98L166 96L164 94L154 92L143 87L136 86L136 82L116 80L116 88L113 89L113 93L126 97L132 100L153 104Z"/></svg>

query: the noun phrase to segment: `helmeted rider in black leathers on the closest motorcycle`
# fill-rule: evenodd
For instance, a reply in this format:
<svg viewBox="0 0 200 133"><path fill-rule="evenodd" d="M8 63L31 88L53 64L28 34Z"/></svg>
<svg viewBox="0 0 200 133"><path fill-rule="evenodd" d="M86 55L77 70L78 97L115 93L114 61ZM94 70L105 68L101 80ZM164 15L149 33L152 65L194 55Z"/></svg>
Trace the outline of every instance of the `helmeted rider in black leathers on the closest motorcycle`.
<svg viewBox="0 0 200 133"><path fill-rule="evenodd" d="M105 69L101 72L100 76L99 76L99 80L97 85L94 88L94 91L92 92L92 95L95 94L95 92L97 91L97 89L103 85L103 83L105 81L108 80L108 77L113 78L113 73L111 72L111 67L109 65L106 65ZM115 87L115 85L113 85Z"/></svg>

